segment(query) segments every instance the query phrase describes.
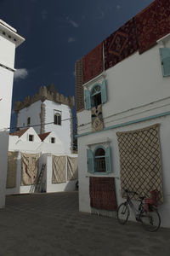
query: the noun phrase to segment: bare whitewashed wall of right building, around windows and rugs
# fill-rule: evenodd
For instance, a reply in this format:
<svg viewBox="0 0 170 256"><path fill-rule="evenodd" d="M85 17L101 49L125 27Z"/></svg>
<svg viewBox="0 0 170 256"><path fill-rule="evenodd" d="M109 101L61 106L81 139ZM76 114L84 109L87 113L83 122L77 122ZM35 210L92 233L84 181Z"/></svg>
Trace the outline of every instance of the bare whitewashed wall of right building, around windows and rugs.
<svg viewBox="0 0 170 256"><path fill-rule="evenodd" d="M170 43L167 42L166 46L170 47ZM105 128L111 126L113 128L108 131L91 133L91 111L83 110L77 113L78 134L86 134L83 137L78 137L79 207L81 212L91 212L90 174L87 172L86 155L88 143L93 141L100 143L102 138L111 140L114 172L109 177L116 177L116 198L119 205L123 199L120 193L120 164L116 131L131 131L160 123L164 203L159 207L159 212L161 213L161 226L170 227L168 218L170 215L170 115L154 119L156 115L170 112L170 78L162 77L159 47L156 45L142 55L136 52L115 67L108 69L99 79L84 86L84 90L90 90L95 83L106 79L108 101L102 106L102 112ZM131 122L136 122L136 124L130 125ZM129 125L123 126L125 123ZM116 125L120 127L114 128Z"/></svg>

